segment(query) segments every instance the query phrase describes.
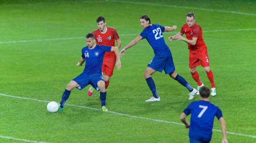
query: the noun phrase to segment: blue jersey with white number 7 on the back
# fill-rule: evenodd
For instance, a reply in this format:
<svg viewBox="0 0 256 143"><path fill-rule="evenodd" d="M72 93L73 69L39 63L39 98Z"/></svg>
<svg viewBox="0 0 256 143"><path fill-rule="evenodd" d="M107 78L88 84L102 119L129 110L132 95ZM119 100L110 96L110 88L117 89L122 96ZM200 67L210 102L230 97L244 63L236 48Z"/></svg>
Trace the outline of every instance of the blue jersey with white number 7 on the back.
<svg viewBox="0 0 256 143"><path fill-rule="evenodd" d="M214 117L222 117L218 106L209 101L194 101L183 111L186 115L191 113L189 137L211 137Z"/></svg>

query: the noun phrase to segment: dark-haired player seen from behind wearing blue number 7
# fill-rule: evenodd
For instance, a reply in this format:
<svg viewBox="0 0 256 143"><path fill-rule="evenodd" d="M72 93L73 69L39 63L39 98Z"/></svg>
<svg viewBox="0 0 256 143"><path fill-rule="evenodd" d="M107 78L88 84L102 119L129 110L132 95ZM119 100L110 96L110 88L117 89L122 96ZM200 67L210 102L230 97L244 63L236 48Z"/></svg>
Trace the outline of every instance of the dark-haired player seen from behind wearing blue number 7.
<svg viewBox="0 0 256 143"><path fill-rule="evenodd" d="M214 117L220 121L222 129L222 143L228 143L226 138L226 124L220 108L209 101L210 89L203 86L199 89L200 101L194 101L183 111L181 121L189 129L190 143L209 143L212 138ZM186 116L191 113L190 125Z"/></svg>

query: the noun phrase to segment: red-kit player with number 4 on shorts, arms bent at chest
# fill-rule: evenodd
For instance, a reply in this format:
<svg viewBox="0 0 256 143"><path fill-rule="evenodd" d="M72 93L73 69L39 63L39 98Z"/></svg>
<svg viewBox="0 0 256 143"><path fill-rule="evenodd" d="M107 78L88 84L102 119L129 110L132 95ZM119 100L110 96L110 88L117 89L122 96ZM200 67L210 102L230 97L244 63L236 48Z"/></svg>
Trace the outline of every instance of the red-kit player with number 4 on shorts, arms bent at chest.
<svg viewBox="0 0 256 143"><path fill-rule="evenodd" d="M199 79L199 74L196 71L196 67L201 65L205 72L207 73L207 77L211 83L211 95L216 95L215 84L213 80L213 74L210 70L209 57L207 53L207 47L205 45L204 39L202 38L202 28L200 25L195 23L195 15L194 13L187 13L186 21L180 32L174 36L169 37L169 41L172 40L183 40L187 42L189 49L189 69L193 79L197 82L197 91L204 86L204 84ZM182 37L185 34L187 38ZM197 92L199 95L199 92Z"/></svg>

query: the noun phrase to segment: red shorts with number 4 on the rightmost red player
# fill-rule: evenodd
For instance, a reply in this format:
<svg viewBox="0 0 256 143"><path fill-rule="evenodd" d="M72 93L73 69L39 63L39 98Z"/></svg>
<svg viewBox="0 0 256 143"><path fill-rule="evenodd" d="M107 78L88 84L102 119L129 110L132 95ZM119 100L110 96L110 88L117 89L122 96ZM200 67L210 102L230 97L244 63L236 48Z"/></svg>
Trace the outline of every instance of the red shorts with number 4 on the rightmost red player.
<svg viewBox="0 0 256 143"><path fill-rule="evenodd" d="M207 48L198 50L189 49L189 68L193 69L199 65L202 65L202 67L210 66Z"/></svg>

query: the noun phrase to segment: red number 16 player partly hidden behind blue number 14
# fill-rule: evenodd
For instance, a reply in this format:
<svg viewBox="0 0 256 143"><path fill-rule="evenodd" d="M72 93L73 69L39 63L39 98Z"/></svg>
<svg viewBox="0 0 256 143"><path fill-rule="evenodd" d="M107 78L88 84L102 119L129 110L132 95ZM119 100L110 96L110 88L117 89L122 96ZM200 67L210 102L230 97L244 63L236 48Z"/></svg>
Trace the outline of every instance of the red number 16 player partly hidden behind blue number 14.
<svg viewBox="0 0 256 143"><path fill-rule="evenodd" d="M105 20L105 17L103 16L99 16L96 22L97 22L98 29L92 31L92 33L95 36L96 43L99 45L115 47L115 41L116 41L116 47L118 47L119 49L121 46L121 40L115 28L106 27L105 26L106 20ZM113 75L115 60L116 60L116 57L114 52L105 52L101 72L104 75L106 89L108 88L110 77ZM88 95L92 96L92 93L93 93L93 87L91 86L90 89L88 90Z"/></svg>

